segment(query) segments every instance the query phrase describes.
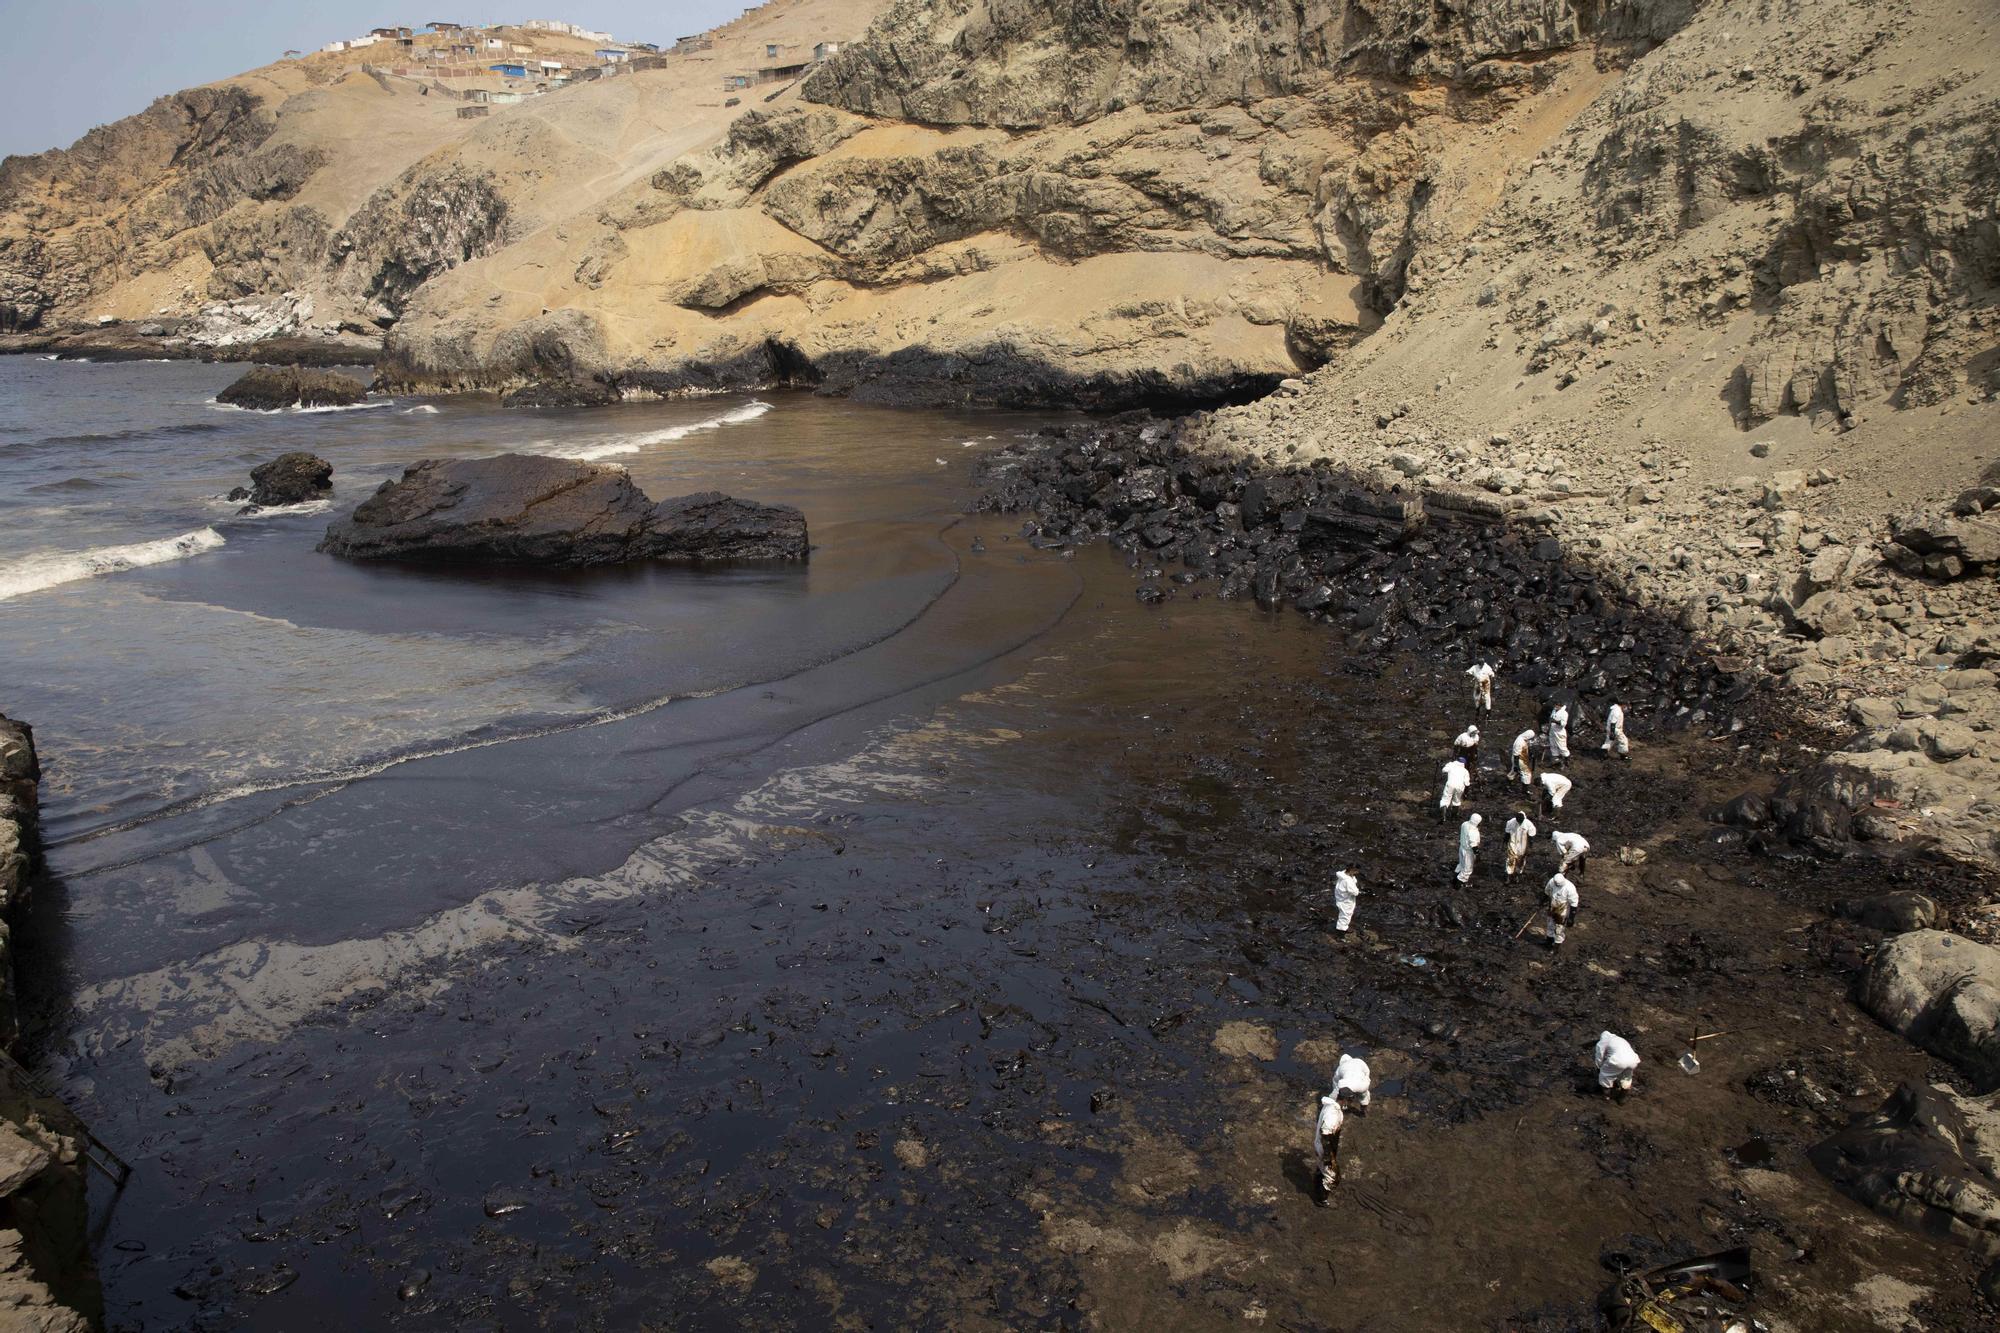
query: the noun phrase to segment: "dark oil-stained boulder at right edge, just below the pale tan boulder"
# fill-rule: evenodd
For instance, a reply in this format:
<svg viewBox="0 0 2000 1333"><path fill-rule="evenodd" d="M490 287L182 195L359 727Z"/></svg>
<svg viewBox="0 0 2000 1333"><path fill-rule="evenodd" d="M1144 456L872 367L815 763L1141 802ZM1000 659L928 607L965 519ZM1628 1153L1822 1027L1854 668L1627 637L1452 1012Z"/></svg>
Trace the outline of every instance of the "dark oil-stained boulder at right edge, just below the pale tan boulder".
<svg viewBox="0 0 2000 1333"><path fill-rule="evenodd" d="M1808 1155L1874 1211L2000 1259L2000 1097L1904 1083Z"/></svg>

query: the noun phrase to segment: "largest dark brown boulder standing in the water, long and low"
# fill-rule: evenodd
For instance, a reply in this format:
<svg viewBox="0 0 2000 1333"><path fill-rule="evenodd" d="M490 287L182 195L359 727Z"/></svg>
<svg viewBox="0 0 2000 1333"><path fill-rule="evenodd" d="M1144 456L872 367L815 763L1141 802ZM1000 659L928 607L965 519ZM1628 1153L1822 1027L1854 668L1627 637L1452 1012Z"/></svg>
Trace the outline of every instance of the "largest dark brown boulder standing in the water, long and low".
<svg viewBox="0 0 2000 1333"><path fill-rule="evenodd" d="M804 560L806 516L716 490L654 504L624 468L540 454L426 460L326 528L354 560L544 566L626 560Z"/></svg>

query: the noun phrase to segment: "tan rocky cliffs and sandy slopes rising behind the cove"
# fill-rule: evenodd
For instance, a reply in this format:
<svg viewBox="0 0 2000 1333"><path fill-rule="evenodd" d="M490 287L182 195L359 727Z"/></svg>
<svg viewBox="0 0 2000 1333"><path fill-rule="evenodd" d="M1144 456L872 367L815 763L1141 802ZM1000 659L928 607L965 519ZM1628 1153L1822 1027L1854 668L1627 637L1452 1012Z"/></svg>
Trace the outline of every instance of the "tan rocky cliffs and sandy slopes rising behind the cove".
<svg viewBox="0 0 2000 1333"><path fill-rule="evenodd" d="M312 56L0 166L0 324L388 330L412 388L1064 406L1242 400L1328 362L1518 370L1570 402L1618 380L1630 406L1666 364L1646 348L1700 344L1688 428L1850 428L1992 386L1986 22L800 0L480 120ZM722 86L856 36L804 80Z"/></svg>

